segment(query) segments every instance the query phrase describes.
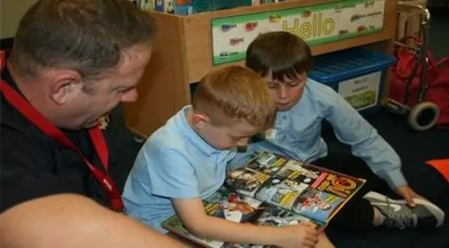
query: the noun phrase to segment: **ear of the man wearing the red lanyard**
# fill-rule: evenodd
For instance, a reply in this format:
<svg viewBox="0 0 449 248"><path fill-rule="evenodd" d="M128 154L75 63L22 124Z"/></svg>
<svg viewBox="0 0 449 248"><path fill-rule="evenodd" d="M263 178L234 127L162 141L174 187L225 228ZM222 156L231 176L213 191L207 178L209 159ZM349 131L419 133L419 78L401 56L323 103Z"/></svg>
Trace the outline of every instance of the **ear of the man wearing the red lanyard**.
<svg viewBox="0 0 449 248"><path fill-rule="evenodd" d="M83 90L81 75L74 70L46 71L50 83L50 98L58 105L74 99Z"/></svg>

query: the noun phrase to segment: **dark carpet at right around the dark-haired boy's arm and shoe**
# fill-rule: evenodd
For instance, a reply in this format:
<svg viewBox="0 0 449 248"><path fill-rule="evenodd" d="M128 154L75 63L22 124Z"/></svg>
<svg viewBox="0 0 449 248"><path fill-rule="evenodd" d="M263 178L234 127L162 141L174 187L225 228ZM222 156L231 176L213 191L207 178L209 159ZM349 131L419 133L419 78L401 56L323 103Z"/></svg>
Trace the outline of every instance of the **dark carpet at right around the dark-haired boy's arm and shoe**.
<svg viewBox="0 0 449 248"><path fill-rule="evenodd" d="M434 129L415 132L408 128L406 119L381 111L367 119L379 133L396 149L403 160L403 172L417 193L425 196L446 213L449 213L449 184L436 170L425 162L432 158L449 158L449 130ZM348 152L331 132L325 138L330 149ZM328 233L337 247L407 247L448 248L449 221L436 230L376 230L369 235L357 233Z"/></svg>

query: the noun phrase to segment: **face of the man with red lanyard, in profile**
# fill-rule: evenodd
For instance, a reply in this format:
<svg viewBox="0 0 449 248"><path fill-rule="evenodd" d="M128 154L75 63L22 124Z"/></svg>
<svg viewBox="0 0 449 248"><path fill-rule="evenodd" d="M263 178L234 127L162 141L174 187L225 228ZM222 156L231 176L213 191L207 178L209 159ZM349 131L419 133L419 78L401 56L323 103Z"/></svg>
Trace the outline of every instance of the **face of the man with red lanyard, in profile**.
<svg viewBox="0 0 449 248"><path fill-rule="evenodd" d="M148 46L135 46L123 53L116 69L95 82L91 90L81 90L72 97L65 109L70 111L65 128L93 128L98 118L112 111L120 102L135 102L138 93L135 85L142 77L151 57Z"/></svg>

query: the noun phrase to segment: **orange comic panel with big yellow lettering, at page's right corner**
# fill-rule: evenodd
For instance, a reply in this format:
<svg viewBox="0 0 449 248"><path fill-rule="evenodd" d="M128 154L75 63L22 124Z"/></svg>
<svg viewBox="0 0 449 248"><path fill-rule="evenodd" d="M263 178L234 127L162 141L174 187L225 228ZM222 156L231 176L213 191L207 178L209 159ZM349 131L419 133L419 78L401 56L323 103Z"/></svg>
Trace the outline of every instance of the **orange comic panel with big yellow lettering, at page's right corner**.
<svg viewBox="0 0 449 248"><path fill-rule="evenodd" d="M322 176L311 185L311 188L326 191L338 195L341 198L349 198L349 196L356 193L358 188L364 184L363 180L346 177L341 174L333 174L332 172L328 172Z"/></svg>

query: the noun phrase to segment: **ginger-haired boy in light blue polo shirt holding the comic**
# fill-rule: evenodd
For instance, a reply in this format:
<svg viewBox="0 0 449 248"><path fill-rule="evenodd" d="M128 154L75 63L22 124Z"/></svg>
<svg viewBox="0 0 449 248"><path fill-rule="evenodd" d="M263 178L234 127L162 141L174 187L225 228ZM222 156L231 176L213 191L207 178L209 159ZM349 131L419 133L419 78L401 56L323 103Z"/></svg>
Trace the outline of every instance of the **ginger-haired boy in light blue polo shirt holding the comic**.
<svg viewBox="0 0 449 248"><path fill-rule="evenodd" d="M314 226L265 227L208 216L201 199L225 182L238 146L274 124L276 106L255 72L231 66L207 74L185 106L147 139L123 192L127 214L162 233L177 213L194 235L232 243L333 247Z"/></svg>

